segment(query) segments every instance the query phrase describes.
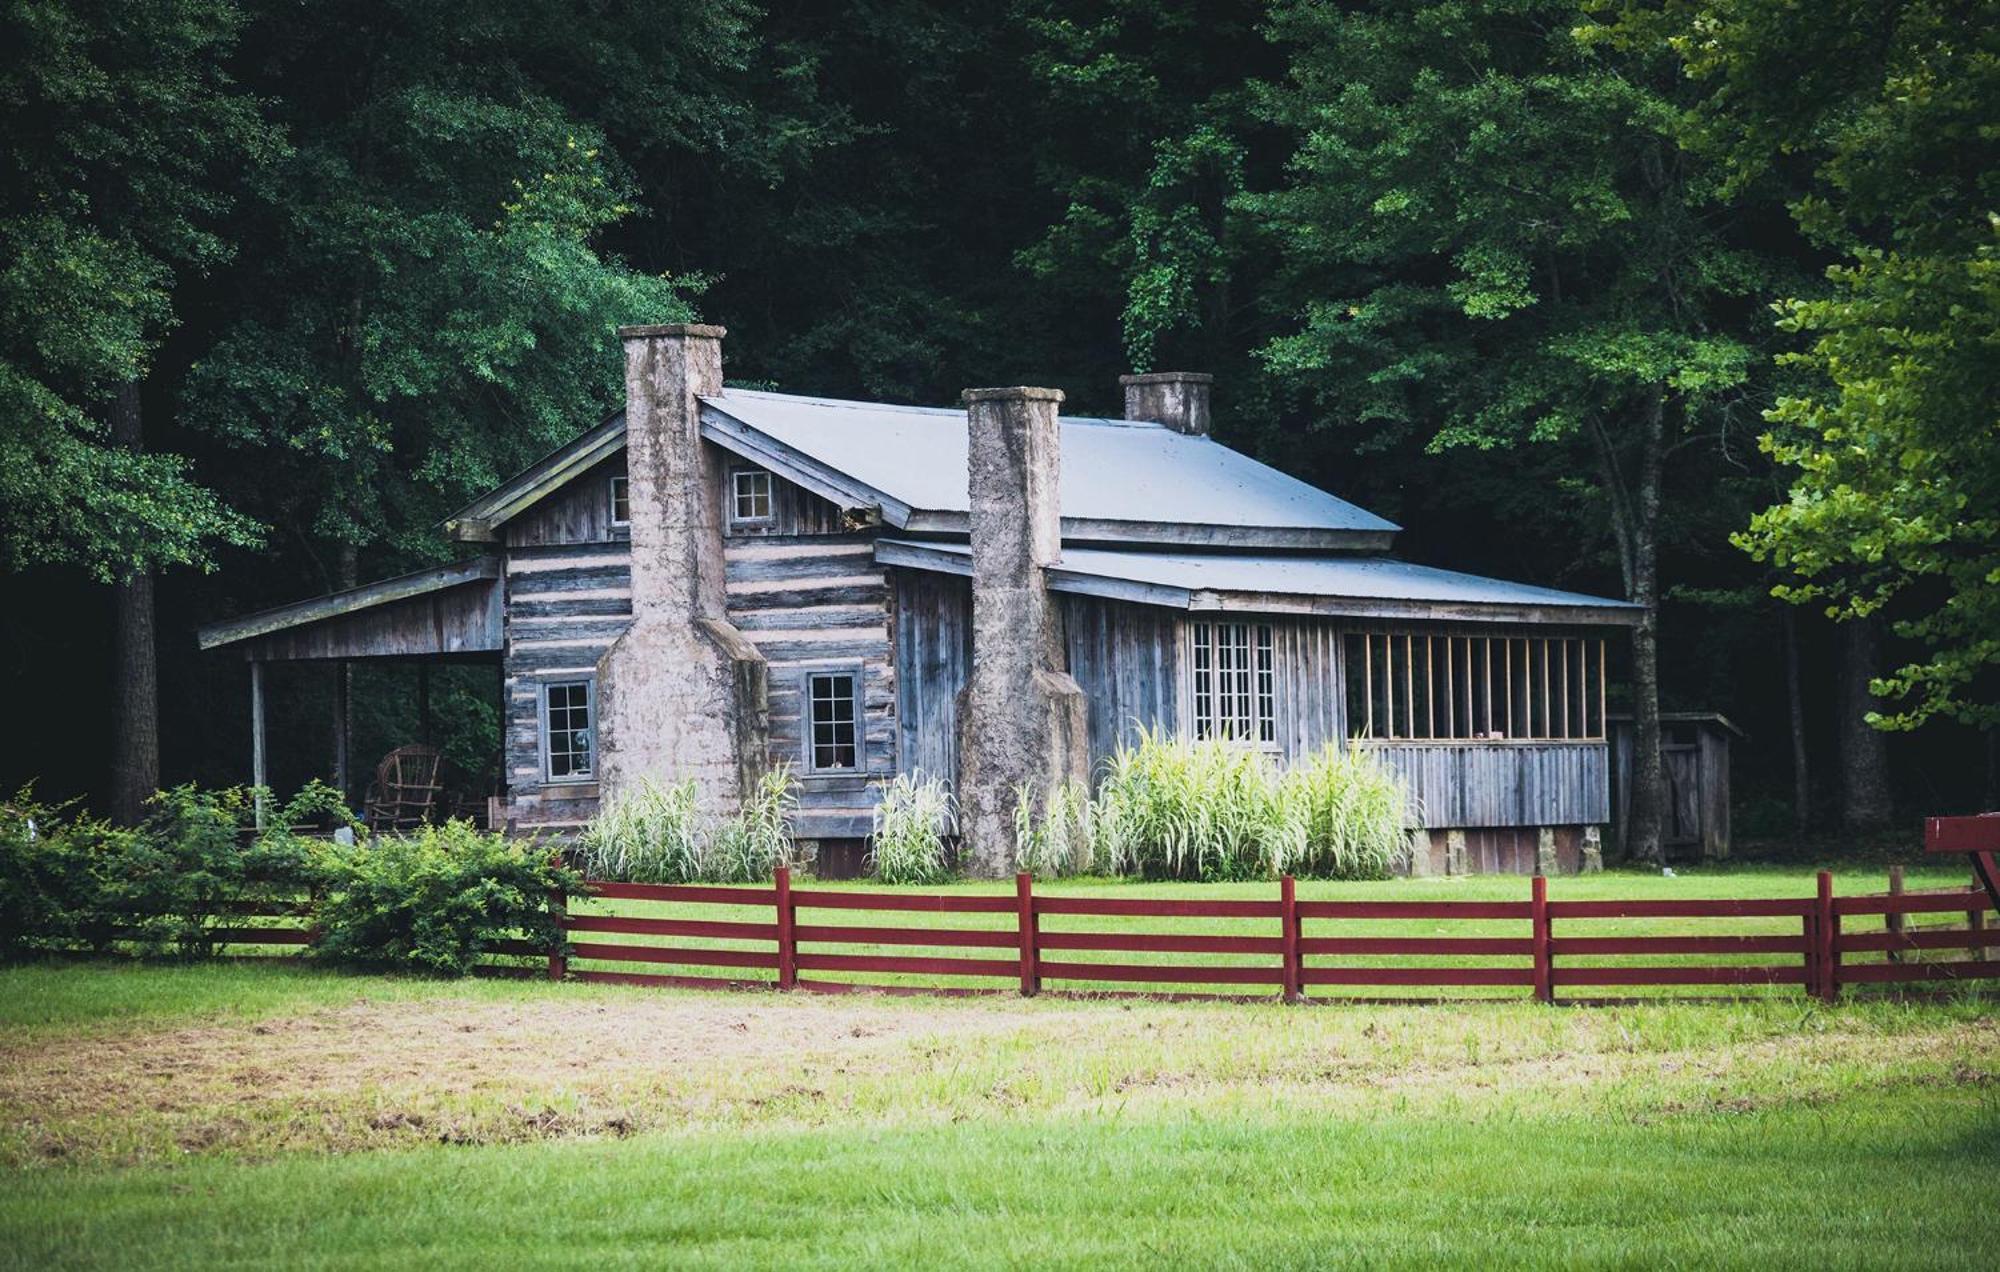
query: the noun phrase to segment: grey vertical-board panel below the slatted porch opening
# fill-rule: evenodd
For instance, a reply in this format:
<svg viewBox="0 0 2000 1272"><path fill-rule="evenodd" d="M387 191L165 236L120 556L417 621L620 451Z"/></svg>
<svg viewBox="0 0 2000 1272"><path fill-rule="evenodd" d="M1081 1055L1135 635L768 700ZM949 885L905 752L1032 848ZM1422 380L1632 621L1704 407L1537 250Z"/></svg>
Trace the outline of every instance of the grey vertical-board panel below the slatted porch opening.
<svg viewBox="0 0 2000 1272"><path fill-rule="evenodd" d="M1602 826L1610 754L1602 742L1368 742L1410 792L1410 824Z"/></svg>

